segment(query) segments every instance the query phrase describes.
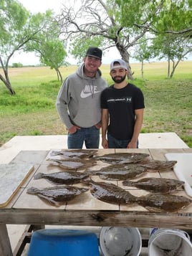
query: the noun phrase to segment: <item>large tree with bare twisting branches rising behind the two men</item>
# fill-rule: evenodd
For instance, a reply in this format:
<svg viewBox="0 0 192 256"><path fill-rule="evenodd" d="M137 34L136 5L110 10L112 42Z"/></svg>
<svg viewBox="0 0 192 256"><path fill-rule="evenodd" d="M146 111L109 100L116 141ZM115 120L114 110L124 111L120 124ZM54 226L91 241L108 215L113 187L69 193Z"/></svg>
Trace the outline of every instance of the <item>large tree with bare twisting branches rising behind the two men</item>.
<svg viewBox="0 0 192 256"><path fill-rule="evenodd" d="M103 49L117 47L130 69L130 51L146 34L172 33L191 39L191 0L69 1L59 24L76 56L82 57L87 42Z"/></svg>

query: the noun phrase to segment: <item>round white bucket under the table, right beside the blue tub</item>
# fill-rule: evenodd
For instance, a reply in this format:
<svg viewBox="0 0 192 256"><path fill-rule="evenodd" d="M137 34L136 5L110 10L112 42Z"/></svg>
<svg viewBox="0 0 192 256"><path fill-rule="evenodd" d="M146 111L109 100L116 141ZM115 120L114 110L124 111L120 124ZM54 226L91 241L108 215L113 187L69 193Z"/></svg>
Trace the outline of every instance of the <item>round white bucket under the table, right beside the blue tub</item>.
<svg viewBox="0 0 192 256"><path fill-rule="evenodd" d="M136 227L102 227L100 249L104 256L138 256L142 239Z"/></svg>

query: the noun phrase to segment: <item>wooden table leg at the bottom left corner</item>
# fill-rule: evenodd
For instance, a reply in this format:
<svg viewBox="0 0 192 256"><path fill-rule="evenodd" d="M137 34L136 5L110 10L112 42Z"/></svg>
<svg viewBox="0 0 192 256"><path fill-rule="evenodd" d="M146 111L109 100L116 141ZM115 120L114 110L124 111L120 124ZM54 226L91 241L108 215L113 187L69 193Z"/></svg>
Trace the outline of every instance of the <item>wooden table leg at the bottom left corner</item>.
<svg viewBox="0 0 192 256"><path fill-rule="evenodd" d="M13 255L6 224L0 224L0 255Z"/></svg>

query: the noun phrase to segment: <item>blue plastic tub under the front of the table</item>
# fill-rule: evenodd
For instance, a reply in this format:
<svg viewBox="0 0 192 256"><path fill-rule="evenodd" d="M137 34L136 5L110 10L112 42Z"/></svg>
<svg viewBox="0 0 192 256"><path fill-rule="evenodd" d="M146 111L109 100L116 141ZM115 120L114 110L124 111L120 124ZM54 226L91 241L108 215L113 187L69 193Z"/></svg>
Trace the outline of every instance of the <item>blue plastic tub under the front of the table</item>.
<svg viewBox="0 0 192 256"><path fill-rule="evenodd" d="M97 235L85 230L40 229L32 234L28 256L99 256Z"/></svg>

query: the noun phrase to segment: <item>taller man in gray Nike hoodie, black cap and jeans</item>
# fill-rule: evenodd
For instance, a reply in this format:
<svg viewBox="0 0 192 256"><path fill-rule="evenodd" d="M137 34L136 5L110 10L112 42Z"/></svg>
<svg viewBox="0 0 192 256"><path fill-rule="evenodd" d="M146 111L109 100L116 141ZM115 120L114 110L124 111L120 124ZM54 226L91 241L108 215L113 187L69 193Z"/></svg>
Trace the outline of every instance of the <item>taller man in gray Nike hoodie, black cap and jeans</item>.
<svg viewBox="0 0 192 256"><path fill-rule="evenodd" d="M68 130L68 148L99 148L101 109L100 94L107 87L99 70L102 50L87 49L84 62L69 75L59 90L56 108Z"/></svg>

